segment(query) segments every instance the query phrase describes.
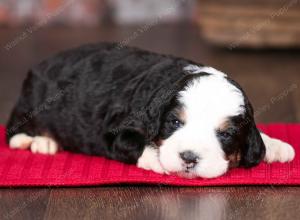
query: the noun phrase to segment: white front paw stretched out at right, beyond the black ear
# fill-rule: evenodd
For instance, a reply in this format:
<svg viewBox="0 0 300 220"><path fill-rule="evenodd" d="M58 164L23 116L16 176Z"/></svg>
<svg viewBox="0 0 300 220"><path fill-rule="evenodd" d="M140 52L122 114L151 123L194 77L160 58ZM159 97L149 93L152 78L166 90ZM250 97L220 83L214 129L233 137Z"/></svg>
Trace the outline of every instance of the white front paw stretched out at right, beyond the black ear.
<svg viewBox="0 0 300 220"><path fill-rule="evenodd" d="M292 161L295 157L294 148L281 140L271 138L261 133L266 146L265 161L268 163L279 161L281 163Z"/></svg>

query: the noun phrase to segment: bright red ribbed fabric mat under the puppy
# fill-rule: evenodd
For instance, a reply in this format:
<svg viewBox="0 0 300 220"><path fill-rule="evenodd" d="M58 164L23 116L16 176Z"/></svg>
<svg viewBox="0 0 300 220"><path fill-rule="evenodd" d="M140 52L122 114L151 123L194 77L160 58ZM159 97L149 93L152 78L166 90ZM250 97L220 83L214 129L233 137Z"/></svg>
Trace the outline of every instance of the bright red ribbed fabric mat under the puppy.
<svg viewBox="0 0 300 220"><path fill-rule="evenodd" d="M264 132L293 145L291 163L261 163L230 170L215 179L183 179L160 175L101 157L60 152L55 156L10 150L0 127L0 186L88 186L107 184L166 184L176 186L300 185L300 124L260 125Z"/></svg>

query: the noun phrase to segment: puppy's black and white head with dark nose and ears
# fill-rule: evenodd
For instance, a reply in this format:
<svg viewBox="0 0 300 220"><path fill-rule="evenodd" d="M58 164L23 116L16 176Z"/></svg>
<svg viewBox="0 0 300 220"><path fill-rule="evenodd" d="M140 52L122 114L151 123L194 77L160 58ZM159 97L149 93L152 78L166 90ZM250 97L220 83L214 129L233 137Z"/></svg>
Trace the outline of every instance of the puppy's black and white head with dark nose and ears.
<svg viewBox="0 0 300 220"><path fill-rule="evenodd" d="M159 161L170 173L212 178L252 167L265 154L252 107L238 84L208 67L188 66L184 86L160 118Z"/></svg>

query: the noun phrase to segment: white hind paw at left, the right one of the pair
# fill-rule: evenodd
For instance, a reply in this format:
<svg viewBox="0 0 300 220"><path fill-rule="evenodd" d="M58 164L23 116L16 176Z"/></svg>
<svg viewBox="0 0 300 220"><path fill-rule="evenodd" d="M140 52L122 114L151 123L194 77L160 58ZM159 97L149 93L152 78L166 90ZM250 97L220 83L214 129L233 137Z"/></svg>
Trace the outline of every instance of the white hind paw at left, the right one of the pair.
<svg viewBox="0 0 300 220"><path fill-rule="evenodd" d="M36 136L31 144L32 153L55 154L58 151L57 143L48 137Z"/></svg>

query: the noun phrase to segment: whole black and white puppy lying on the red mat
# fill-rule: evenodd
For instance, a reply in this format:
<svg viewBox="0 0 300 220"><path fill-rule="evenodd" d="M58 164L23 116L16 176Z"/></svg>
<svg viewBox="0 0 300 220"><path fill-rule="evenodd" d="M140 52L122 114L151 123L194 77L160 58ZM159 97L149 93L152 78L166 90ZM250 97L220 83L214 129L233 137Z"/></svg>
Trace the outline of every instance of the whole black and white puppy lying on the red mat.
<svg viewBox="0 0 300 220"><path fill-rule="evenodd" d="M247 96L226 74L111 43L32 68L7 129L11 148L61 147L190 178L295 155L258 131Z"/></svg>

